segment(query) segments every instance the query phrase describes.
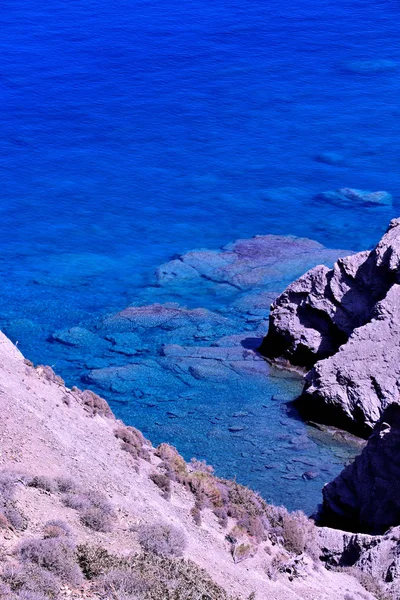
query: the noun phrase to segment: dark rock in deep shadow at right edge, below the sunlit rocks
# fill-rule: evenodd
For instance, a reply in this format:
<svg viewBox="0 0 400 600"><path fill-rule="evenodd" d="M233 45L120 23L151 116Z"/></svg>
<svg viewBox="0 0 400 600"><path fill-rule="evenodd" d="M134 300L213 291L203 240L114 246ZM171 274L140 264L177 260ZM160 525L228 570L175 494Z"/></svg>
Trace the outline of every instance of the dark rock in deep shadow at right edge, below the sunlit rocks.
<svg viewBox="0 0 400 600"><path fill-rule="evenodd" d="M323 488L321 522L382 534L400 525L400 406L392 404L355 461Z"/></svg>

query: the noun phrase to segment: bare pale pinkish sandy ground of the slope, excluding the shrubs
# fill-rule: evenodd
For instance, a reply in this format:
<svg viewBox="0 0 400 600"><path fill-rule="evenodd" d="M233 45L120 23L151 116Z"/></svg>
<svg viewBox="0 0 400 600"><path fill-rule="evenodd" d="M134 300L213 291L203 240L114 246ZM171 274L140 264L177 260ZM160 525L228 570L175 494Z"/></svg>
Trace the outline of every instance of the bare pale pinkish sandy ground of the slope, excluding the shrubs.
<svg viewBox="0 0 400 600"><path fill-rule="evenodd" d="M178 484L174 484L171 501L164 500L148 479L151 464L140 460L138 474L131 456L121 450L114 436L117 422L90 416L73 392L46 379L41 369L26 364L2 333L0 403L1 469L72 476L88 488L105 492L118 513L112 533L94 533L80 524L77 513L63 506L57 495L21 484L18 501L29 518L29 527L20 535L32 536L50 518L62 518L71 524L79 541L90 540L115 553L128 554L138 548L135 533L130 531L132 525L168 521L185 530L189 540L185 555L228 592L247 598L255 591L258 600L338 600L349 592L355 598L370 597L353 578L323 568L303 580L289 582L282 576L272 582L265 575L268 557L263 549L254 558L234 564L226 532L211 512L197 527L189 512L193 498ZM159 459L152 456L151 460L156 464ZM1 536L9 551L18 541L18 535L9 530L0 530Z"/></svg>

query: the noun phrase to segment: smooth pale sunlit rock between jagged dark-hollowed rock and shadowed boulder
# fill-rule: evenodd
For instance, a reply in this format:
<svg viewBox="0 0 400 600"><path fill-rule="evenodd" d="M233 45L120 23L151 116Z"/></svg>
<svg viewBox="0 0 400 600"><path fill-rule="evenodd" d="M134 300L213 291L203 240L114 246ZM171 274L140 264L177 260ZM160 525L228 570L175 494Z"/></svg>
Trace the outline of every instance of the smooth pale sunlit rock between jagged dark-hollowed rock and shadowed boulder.
<svg viewBox="0 0 400 600"><path fill-rule="evenodd" d="M305 412L368 436L385 408L400 403L399 341L400 285L394 284L371 321L307 374Z"/></svg>

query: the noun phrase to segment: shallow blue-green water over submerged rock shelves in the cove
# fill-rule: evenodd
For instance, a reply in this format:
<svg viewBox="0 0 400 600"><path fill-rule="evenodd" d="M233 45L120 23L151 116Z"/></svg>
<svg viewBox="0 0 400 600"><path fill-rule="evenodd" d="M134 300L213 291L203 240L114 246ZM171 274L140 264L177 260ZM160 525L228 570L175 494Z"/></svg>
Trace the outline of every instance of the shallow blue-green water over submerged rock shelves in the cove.
<svg viewBox="0 0 400 600"><path fill-rule="evenodd" d="M272 235L189 252L162 265L134 306L54 331L51 360L154 443L169 441L271 502L311 513L359 446L305 425L290 406L301 377L256 348L277 294L344 253Z"/></svg>

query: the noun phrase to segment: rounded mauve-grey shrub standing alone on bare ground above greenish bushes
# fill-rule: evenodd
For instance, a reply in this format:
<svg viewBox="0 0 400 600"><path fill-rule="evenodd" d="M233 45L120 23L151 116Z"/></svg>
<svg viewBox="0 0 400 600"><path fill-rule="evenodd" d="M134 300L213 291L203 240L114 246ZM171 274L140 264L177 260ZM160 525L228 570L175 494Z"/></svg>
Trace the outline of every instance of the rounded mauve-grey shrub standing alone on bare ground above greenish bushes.
<svg viewBox="0 0 400 600"><path fill-rule="evenodd" d="M183 531L168 523L142 525L139 543L146 552L160 556L181 556L187 545Z"/></svg>

